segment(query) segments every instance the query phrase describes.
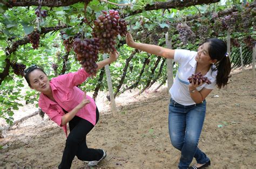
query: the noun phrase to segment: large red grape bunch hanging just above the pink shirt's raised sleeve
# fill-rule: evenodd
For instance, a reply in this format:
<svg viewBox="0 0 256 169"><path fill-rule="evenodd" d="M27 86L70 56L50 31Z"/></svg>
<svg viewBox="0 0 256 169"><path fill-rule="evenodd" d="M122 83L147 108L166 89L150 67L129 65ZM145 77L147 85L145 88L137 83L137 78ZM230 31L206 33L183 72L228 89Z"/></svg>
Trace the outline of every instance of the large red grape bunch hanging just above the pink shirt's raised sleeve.
<svg viewBox="0 0 256 169"><path fill-rule="evenodd" d="M80 61L82 67L89 74L96 74L96 69L98 65L96 61L98 60L99 53L99 39L80 39L76 38L73 42L73 50L76 52L77 60Z"/></svg>

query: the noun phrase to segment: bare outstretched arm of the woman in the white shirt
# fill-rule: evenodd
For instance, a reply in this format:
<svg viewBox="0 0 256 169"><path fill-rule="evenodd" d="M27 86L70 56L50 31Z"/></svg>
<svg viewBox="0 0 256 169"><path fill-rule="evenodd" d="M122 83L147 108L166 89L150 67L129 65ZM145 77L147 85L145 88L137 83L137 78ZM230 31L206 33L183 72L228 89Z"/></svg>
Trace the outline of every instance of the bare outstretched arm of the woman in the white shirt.
<svg viewBox="0 0 256 169"><path fill-rule="evenodd" d="M173 59L174 58L174 50L170 50L168 48L160 47L157 45L143 44L134 42L132 35L130 33L126 34L126 44L130 47L136 48L137 50L141 50L150 54L158 55L160 57Z"/></svg>

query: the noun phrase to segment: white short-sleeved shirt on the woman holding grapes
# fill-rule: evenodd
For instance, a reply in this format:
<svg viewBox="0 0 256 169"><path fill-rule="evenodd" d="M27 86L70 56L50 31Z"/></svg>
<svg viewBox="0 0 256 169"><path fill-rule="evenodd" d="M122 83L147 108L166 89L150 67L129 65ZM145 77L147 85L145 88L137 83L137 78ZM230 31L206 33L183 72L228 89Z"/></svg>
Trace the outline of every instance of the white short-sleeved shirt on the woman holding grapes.
<svg viewBox="0 0 256 169"><path fill-rule="evenodd" d="M188 85L190 84L190 82L187 80L189 76L191 76L192 74L195 74L196 72L196 67L197 67L197 61L195 60L196 55L197 55L197 52L188 51L188 50L175 50L174 52L173 60L179 63L179 68L178 68L176 77L174 79L173 85L169 92L173 100L182 105L196 104L190 96L190 91L188 90ZM207 85L207 83L204 83L204 85L197 87L198 91L200 91L203 88L207 88L207 89L215 88L217 71L212 71L212 69L210 68L210 70L206 73L205 76L212 83L210 85Z"/></svg>

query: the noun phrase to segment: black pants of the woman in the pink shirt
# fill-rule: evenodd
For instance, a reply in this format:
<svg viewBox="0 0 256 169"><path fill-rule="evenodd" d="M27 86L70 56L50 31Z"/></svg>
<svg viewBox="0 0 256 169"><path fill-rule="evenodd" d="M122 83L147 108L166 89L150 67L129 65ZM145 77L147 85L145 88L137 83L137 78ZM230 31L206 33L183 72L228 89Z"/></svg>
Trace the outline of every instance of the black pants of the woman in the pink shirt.
<svg viewBox="0 0 256 169"><path fill-rule="evenodd" d="M96 123L99 120L99 111L96 108ZM77 156L79 160L99 160L103 156L100 149L89 149L86 145L86 135L91 131L93 125L86 119L75 116L69 122L70 133L66 139L66 146L62 156L62 162L58 168L70 168L72 161Z"/></svg>

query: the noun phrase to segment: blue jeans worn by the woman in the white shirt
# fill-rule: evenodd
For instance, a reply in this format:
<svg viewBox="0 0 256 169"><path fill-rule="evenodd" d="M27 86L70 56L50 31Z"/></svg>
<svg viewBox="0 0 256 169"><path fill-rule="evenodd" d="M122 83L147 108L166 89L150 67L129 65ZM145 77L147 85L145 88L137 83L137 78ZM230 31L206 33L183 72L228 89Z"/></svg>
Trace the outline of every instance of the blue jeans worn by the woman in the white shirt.
<svg viewBox="0 0 256 169"><path fill-rule="evenodd" d="M193 157L204 164L210 159L198 149L203 128L206 101L193 105L181 105L171 98L169 105L169 134L172 145L181 151L179 168L188 168Z"/></svg>

